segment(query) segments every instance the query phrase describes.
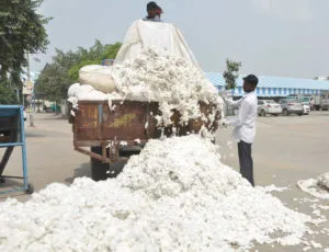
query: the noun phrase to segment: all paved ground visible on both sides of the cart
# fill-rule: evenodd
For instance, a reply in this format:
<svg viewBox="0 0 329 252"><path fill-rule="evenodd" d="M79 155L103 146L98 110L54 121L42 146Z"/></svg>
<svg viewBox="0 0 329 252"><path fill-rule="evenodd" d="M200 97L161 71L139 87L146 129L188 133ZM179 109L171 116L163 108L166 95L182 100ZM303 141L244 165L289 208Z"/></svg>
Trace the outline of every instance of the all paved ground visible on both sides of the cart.
<svg viewBox="0 0 329 252"><path fill-rule="evenodd" d="M36 114L34 128L26 124L27 163L30 180L38 191L49 183L69 184L77 176L90 176L89 158L72 148L71 126L67 121L53 114ZM307 205L300 205L293 198L309 197L295 185L298 180L315 177L329 171L329 112L315 112L308 116L259 117L257 139L253 145L256 183L290 186L290 191L277 193L291 208L310 213ZM237 148L230 149L231 129L222 129L217 134L217 144L222 146L223 160L238 170ZM7 174L21 174L20 150L15 150L10 160ZM20 181L8 181L8 185L20 185ZM2 185L3 187L3 185ZM14 195L26 201L27 195ZM4 199L7 196L1 196ZM329 204L324 203L324 204ZM326 214L329 219L329 210ZM322 227L329 228L328 222ZM317 236L325 248L329 248L329 238ZM287 248L262 248L261 251L285 251ZM300 251L300 247L290 248Z"/></svg>

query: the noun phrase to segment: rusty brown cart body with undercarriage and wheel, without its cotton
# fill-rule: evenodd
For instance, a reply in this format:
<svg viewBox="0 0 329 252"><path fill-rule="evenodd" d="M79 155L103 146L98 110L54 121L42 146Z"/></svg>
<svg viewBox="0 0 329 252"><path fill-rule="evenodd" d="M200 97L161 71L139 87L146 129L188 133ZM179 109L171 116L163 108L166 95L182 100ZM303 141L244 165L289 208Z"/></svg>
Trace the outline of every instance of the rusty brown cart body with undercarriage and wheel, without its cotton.
<svg viewBox="0 0 329 252"><path fill-rule="evenodd" d="M107 101L79 101L78 108L70 116L73 130L75 149L91 157L93 180L115 176L122 169L115 169L118 161L126 161L131 154L139 153L144 145L151 138L162 134L178 136L198 133L204 125L216 130L220 113L214 105L200 103L204 115L215 114L216 121L203 122L192 119L189 124L179 124L180 114L173 111L169 127L158 127L156 115L160 115L157 102L112 101L110 110Z"/></svg>

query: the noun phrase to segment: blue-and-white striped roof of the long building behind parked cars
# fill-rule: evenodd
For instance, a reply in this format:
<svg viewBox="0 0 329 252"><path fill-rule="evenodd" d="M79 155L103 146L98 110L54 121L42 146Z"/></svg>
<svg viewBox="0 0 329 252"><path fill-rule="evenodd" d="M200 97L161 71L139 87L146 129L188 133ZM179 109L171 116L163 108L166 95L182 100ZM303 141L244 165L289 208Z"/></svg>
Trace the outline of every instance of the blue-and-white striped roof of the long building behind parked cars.
<svg viewBox="0 0 329 252"><path fill-rule="evenodd" d="M216 87L225 85L225 79L220 72L205 72L206 78ZM242 77L237 80L237 87L242 87ZM329 81L297 79L287 77L259 76L258 88L281 88L281 89L307 89L307 90L329 90Z"/></svg>

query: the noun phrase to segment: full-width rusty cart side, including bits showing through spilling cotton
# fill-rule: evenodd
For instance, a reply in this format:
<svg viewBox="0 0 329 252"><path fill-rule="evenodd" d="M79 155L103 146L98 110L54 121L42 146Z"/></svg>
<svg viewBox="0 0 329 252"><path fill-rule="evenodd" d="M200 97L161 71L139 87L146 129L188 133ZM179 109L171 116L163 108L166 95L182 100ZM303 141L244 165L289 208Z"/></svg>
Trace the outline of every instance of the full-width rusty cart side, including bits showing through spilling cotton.
<svg viewBox="0 0 329 252"><path fill-rule="evenodd" d="M156 115L160 114L158 103L136 101L113 101L114 110L110 110L107 102L83 101L79 102L79 110L75 118L75 142L106 142L110 140L134 141L139 138L147 141L159 137ZM216 106L200 103L201 113L205 116L213 114L214 122L204 122L202 118L191 119L188 125L179 125L180 114L173 111L172 126L177 128L178 135L198 133L204 125L212 131L217 128L220 112ZM215 116L214 116L215 114ZM172 127L164 128L164 134L170 136Z"/></svg>

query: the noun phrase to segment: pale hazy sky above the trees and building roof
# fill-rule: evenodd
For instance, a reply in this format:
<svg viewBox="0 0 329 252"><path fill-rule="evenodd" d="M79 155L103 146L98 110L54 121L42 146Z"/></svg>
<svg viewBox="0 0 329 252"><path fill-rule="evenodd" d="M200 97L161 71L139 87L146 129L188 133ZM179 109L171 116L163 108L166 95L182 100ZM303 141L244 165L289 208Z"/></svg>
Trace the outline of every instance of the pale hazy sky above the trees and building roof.
<svg viewBox="0 0 329 252"><path fill-rule="evenodd" d="M46 54L31 57L31 70L52 60L55 48L75 50L123 42L131 24L146 15L145 0L44 0ZM227 58L241 73L314 78L329 76L328 0L158 0L162 18L179 27L204 71L225 70ZM41 61L37 62L35 58Z"/></svg>

